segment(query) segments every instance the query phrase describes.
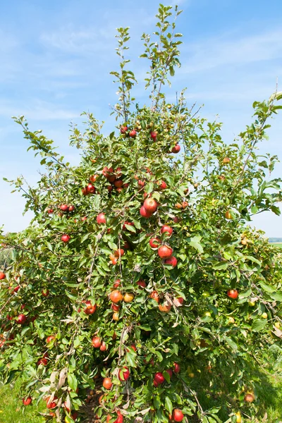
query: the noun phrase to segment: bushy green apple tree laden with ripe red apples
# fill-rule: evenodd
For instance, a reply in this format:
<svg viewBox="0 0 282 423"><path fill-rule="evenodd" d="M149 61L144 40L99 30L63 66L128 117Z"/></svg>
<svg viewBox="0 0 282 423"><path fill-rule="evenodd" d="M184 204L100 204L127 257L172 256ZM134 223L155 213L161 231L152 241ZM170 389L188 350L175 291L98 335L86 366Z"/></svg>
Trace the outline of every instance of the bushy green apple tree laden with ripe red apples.
<svg viewBox="0 0 282 423"><path fill-rule="evenodd" d="M249 222L280 213L278 159L257 149L282 94L255 102L231 144L184 91L166 102L179 13L160 5L154 36L142 35L149 106L132 97L118 28L116 128L104 135L85 114L71 133L79 166L15 118L44 170L35 188L9 181L34 218L1 235L13 254L0 269L0 374L20 380L23 407L45 402L48 422L85 421L90 390L102 390L92 421L247 422L259 410L255 370L279 371L282 259Z"/></svg>

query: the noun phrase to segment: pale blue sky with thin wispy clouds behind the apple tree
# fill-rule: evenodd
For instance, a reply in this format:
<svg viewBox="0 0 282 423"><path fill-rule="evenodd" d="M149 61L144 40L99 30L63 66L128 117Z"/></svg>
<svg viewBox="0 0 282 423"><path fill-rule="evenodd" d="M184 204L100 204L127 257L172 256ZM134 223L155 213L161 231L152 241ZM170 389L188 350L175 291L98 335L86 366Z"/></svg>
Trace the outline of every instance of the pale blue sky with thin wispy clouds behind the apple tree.
<svg viewBox="0 0 282 423"><path fill-rule="evenodd" d="M173 4L171 1L168 4ZM219 114L223 137L232 142L252 116L252 102L268 98L278 78L282 91L281 0L182 0L178 19L182 32L182 67L173 78L176 90L187 87L188 103L204 104L202 116ZM117 68L115 28L130 27L130 59L142 80L146 72L142 32L154 31L159 1L134 0L10 0L2 2L0 16L0 223L19 231L30 215L24 202L2 177L23 174L38 179L39 161L27 153L20 127L11 116L24 114L32 129L42 129L55 140L73 164L78 153L68 147L71 121L80 123L82 111L92 111L110 130L109 104L116 87L109 72ZM135 95L145 101L143 85ZM269 141L261 151L282 159L282 114L271 122ZM282 165L275 176L282 175ZM282 237L282 217L260 214L254 225L268 236Z"/></svg>

